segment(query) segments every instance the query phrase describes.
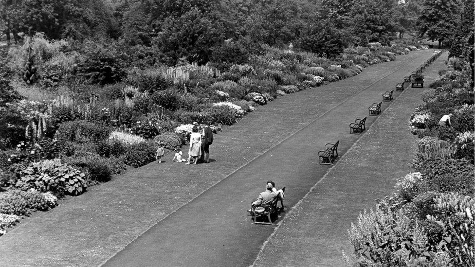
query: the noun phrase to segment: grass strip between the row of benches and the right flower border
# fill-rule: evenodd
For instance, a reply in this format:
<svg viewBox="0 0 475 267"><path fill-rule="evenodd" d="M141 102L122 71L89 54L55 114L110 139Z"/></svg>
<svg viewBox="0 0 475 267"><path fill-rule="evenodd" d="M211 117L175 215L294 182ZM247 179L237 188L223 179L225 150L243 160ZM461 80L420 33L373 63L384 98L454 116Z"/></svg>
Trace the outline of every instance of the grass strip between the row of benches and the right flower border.
<svg viewBox="0 0 475 267"><path fill-rule="evenodd" d="M446 69L444 53L424 71L425 86ZM394 192L409 163L417 136L408 120L422 104L424 89L406 89L324 178L282 220L254 266L341 266L342 250L353 252L347 230L375 199ZM375 164L375 162L383 164Z"/></svg>

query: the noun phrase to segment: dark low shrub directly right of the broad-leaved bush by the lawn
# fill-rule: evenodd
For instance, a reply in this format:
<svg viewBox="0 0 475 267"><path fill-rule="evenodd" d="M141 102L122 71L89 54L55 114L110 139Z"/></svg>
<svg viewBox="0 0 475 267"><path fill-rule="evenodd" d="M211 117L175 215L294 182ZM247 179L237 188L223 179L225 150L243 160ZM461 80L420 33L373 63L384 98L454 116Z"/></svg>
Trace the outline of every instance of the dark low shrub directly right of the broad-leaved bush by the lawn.
<svg viewBox="0 0 475 267"><path fill-rule="evenodd" d="M65 161L74 167L80 168L88 174L88 178L93 181L107 182L112 176L109 162L98 155L96 156L76 156L65 159Z"/></svg>

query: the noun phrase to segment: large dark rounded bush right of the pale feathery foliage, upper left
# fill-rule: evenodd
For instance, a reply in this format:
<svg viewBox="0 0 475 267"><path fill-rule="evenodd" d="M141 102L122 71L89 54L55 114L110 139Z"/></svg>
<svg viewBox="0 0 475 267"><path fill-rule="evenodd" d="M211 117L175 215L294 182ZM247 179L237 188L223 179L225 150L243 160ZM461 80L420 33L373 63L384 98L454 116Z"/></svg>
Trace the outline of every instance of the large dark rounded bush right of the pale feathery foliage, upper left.
<svg viewBox="0 0 475 267"><path fill-rule="evenodd" d="M112 84L126 77L125 63L121 54L112 47L93 47L86 49L86 59L75 68L77 76L82 76L92 84Z"/></svg>

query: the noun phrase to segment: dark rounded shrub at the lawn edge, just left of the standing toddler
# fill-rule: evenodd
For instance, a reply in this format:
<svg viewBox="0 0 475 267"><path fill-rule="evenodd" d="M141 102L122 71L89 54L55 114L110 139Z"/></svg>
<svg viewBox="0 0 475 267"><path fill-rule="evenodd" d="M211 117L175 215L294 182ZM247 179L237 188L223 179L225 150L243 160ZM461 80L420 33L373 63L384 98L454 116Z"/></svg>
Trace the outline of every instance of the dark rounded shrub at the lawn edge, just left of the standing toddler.
<svg viewBox="0 0 475 267"><path fill-rule="evenodd" d="M144 166L155 160L156 150L157 145L153 141L129 145L125 154L124 163L134 168Z"/></svg>

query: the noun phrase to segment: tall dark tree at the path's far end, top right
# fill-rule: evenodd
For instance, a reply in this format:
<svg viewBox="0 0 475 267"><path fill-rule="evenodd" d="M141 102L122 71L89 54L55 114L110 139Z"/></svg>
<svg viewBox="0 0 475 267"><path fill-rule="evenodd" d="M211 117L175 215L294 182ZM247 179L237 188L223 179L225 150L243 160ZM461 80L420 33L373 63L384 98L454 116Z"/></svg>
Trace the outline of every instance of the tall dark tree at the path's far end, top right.
<svg viewBox="0 0 475 267"><path fill-rule="evenodd" d="M438 40L439 46L457 30L460 0L423 0L418 18L420 36Z"/></svg>

